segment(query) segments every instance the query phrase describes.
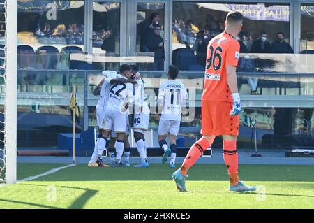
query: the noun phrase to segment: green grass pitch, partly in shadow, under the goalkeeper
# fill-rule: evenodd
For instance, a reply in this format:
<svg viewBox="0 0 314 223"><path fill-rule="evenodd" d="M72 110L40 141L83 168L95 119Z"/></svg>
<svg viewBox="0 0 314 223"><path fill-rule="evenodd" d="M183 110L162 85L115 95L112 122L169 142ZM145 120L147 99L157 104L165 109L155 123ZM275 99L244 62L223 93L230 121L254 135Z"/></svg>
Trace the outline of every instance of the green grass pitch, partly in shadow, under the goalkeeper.
<svg viewBox="0 0 314 223"><path fill-rule="evenodd" d="M66 164L18 164L26 178ZM314 208L314 166L240 165L240 178L258 192L229 192L223 164L197 164L178 192L168 165L149 168L65 168L0 187L2 208Z"/></svg>

